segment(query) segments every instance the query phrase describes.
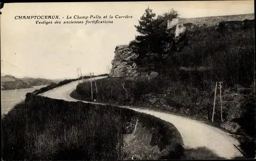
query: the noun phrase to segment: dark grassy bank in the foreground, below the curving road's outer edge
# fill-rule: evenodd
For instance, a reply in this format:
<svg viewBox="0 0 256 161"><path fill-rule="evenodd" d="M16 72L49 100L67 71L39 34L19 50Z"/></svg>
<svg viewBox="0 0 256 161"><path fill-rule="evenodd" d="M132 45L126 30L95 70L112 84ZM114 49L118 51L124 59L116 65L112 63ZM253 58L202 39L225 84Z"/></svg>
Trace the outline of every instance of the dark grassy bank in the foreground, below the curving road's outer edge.
<svg viewBox="0 0 256 161"><path fill-rule="evenodd" d="M151 115L32 93L2 117L4 160L178 159L182 145L174 125Z"/></svg>

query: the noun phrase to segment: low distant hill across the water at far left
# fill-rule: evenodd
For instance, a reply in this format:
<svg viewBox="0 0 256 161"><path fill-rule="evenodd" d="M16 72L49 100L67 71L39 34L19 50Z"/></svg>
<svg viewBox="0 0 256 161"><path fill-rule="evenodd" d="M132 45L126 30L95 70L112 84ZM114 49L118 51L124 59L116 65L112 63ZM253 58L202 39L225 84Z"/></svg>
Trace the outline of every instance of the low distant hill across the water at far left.
<svg viewBox="0 0 256 161"><path fill-rule="evenodd" d="M1 76L1 90L32 88L33 86L50 85L58 82L45 78L16 78L12 75L4 75Z"/></svg>

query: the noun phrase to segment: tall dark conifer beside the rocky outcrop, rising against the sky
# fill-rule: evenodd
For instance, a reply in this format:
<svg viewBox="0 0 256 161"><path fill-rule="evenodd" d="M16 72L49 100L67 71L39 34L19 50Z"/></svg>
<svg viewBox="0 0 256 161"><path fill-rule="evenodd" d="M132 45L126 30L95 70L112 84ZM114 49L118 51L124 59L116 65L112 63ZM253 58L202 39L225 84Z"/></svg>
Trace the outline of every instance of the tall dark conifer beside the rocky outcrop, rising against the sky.
<svg viewBox="0 0 256 161"><path fill-rule="evenodd" d="M147 71L162 71L167 63L167 56L174 38L174 33L167 31L167 21L178 17L177 11L170 11L156 17L153 10L147 7L140 17L139 25L135 25L140 35L130 44L134 52L138 53L136 64L145 67Z"/></svg>

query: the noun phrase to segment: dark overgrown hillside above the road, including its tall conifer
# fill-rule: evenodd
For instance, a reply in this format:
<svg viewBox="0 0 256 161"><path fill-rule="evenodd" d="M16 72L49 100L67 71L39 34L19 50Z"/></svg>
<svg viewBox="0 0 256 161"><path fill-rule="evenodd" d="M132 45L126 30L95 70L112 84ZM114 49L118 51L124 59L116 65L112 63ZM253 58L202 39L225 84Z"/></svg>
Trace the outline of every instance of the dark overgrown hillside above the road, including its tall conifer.
<svg viewBox="0 0 256 161"><path fill-rule="evenodd" d="M219 127L234 124L231 131L243 136L240 149L245 157L254 158L254 20L194 28L191 28L193 24L184 24L188 29L186 35L175 40L175 26L166 32L164 19L178 17L177 12L154 17L151 9L145 10L136 26L141 35L136 36L130 47L139 55L135 60L138 68L156 71L158 77L150 81L125 77L97 80L97 91L92 83L93 99L146 106L211 122L215 84L222 82L223 122L218 87L214 124ZM71 96L92 101L90 82L79 84Z"/></svg>

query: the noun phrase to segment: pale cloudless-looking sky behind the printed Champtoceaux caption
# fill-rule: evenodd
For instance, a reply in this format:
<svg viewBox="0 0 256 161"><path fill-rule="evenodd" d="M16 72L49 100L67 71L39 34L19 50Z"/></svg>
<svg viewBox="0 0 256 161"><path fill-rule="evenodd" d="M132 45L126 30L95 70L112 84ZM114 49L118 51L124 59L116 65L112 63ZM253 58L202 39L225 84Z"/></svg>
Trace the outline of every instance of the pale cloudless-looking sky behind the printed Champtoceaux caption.
<svg viewBox="0 0 256 161"><path fill-rule="evenodd" d="M67 78L77 76L77 67L84 74L106 73L115 47L137 35L134 25L147 6L157 15L174 8L184 18L254 13L253 1L5 4L1 10L1 73ZM114 18L112 24L46 25L15 20L16 15L59 15L62 22L67 15L133 18Z"/></svg>

